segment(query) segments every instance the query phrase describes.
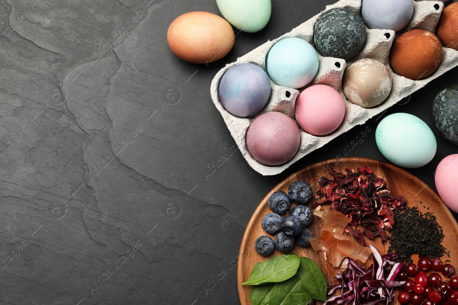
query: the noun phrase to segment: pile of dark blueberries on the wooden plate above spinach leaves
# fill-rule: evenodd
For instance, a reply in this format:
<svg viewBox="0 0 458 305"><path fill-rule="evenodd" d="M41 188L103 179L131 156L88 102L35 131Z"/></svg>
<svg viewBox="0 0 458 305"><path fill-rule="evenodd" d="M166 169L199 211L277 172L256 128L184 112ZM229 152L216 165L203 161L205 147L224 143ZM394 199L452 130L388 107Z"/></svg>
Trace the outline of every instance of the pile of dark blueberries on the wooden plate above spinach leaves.
<svg viewBox="0 0 458 305"><path fill-rule="evenodd" d="M295 181L289 185L288 194L278 191L270 195L268 200L269 213L262 219L262 229L268 234L275 235L275 243L270 236L262 235L256 239L256 252L263 256L270 255L277 247L282 252L289 252L293 249L294 243L306 247L310 245L309 239L313 237L311 231L307 230L310 225L313 214L311 209L304 204L312 197L310 185L303 181ZM291 202L297 203L289 212Z"/></svg>

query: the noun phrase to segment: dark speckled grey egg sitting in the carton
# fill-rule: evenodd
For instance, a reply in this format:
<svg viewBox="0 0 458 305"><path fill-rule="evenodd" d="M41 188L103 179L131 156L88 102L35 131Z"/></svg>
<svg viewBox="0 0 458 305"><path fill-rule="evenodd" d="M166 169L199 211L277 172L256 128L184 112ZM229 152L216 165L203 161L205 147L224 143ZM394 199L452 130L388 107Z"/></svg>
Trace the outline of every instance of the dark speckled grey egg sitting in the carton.
<svg viewBox="0 0 458 305"><path fill-rule="evenodd" d="M348 9L329 10L315 23L313 43L323 56L349 60L361 51L365 42L364 21Z"/></svg>

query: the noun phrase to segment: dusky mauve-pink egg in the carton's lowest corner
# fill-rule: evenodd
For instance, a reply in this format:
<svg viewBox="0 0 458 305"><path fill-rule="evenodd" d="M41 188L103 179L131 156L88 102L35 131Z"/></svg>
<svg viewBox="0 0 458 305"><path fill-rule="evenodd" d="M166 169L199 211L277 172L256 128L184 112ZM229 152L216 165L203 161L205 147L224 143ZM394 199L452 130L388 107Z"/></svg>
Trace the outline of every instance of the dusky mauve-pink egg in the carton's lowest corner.
<svg viewBox="0 0 458 305"><path fill-rule="evenodd" d="M246 132L246 146L256 161L277 166L288 162L300 144L299 127L282 112L266 112L251 122Z"/></svg>

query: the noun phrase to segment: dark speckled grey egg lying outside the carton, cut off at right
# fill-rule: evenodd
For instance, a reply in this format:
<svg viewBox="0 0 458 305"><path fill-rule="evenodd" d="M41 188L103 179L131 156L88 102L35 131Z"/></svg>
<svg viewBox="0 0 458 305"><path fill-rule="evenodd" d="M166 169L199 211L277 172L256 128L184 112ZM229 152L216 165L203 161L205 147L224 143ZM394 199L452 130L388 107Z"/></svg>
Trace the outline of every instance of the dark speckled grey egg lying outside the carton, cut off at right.
<svg viewBox="0 0 458 305"><path fill-rule="evenodd" d="M444 138L458 144L458 85L439 92L432 105L432 115Z"/></svg>

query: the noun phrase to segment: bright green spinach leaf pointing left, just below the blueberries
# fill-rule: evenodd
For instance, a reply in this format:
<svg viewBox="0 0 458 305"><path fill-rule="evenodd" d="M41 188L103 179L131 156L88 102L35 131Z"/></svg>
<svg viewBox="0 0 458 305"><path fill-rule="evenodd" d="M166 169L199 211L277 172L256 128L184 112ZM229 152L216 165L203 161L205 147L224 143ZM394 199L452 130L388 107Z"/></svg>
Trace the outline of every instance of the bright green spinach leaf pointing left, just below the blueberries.
<svg viewBox="0 0 458 305"><path fill-rule="evenodd" d="M269 258L255 265L250 277L242 286L282 282L296 274L299 264L300 259L294 253Z"/></svg>

